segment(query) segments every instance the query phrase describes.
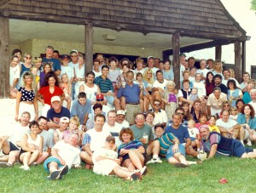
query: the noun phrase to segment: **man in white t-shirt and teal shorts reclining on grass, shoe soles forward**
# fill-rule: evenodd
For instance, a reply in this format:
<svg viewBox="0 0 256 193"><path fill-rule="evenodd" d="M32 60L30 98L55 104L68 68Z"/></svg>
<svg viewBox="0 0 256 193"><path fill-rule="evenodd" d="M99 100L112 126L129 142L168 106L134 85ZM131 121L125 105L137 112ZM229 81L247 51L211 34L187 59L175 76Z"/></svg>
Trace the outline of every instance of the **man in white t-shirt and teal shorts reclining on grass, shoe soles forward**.
<svg viewBox="0 0 256 193"><path fill-rule="evenodd" d="M51 157L44 162L44 169L49 172L47 179L62 179L71 167L80 166L80 150L77 148L79 134L73 133L65 142L59 141L51 150Z"/></svg>

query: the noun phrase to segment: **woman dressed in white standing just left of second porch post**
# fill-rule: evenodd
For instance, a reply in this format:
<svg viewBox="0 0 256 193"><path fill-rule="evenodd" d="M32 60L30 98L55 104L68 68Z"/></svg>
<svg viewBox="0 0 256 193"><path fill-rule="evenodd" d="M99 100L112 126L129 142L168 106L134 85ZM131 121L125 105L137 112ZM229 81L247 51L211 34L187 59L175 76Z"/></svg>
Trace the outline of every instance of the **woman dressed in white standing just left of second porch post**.
<svg viewBox="0 0 256 193"><path fill-rule="evenodd" d="M75 94L73 96L74 99L78 98L79 95L79 88L84 83L84 57L79 56L79 65L74 67L74 82L75 82Z"/></svg>

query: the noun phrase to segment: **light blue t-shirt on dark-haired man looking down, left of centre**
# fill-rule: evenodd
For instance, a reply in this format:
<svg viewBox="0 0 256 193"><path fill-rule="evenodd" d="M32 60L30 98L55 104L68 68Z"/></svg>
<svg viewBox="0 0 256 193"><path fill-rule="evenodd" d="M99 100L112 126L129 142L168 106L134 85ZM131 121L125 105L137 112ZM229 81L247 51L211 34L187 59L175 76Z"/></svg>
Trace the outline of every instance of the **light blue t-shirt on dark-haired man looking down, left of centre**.
<svg viewBox="0 0 256 193"><path fill-rule="evenodd" d="M79 99L73 100L71 108L71 116L79 116L80 124L84 123L84 116L91 113L91 102L90 99L86 99L84 105L79 103Z"/></svg>

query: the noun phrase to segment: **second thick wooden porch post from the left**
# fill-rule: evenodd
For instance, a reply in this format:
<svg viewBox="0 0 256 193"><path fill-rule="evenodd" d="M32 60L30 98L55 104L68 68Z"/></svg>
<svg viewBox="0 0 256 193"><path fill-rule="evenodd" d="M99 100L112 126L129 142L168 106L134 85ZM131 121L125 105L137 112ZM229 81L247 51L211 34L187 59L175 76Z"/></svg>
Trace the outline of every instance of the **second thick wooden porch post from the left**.
<svg viewBox="0 0 256 193"><path fill-rule="evenodd" d="M88 71L92 71L93 65L93 26L91 23L85 25L85 74Z"/></svg>

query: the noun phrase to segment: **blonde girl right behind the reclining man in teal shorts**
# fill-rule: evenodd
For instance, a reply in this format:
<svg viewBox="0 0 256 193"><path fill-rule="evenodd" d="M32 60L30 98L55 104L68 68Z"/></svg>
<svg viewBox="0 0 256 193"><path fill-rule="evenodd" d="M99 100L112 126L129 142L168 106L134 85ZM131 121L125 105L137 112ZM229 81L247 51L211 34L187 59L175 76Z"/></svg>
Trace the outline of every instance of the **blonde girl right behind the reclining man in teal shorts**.
<svg viewBox="0 0 256 193"><path fill-rule="evenodd" d="M81 146L82 144L82 139L84 138L84 132L79 131L79 117L78 116L73 116L69 120L69 127L66 131L63 133L63 139L68 140L73 133L79 133L79 142L78 145Z"/></svg>

